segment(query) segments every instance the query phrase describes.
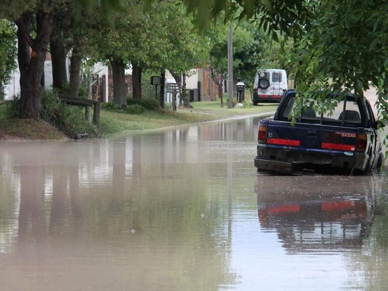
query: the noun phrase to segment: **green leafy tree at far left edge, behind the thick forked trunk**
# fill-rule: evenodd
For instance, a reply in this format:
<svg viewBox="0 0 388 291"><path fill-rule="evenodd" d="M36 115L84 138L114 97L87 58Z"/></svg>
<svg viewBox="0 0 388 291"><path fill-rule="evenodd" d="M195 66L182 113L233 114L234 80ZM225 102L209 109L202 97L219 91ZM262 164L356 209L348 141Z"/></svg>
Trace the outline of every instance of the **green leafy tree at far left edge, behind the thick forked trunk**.
<svg viewBox="0 0 388 291"><path fill-rule="evenodd" d="M4 98L3 86L16 69L16 52L16 29L11 22L0 19L0 99Z"/></svg>

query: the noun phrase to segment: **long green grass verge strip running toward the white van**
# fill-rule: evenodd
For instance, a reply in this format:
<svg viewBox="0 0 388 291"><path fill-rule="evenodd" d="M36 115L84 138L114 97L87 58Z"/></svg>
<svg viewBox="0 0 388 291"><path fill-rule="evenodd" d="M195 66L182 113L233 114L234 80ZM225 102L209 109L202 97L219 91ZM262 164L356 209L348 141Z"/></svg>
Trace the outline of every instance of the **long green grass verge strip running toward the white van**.
<svg viewBox="0 0 388 291"><path fill-rule="evenodd" d="M230 118L241 115L254 115L274 112L277 105L253 106L251 108L220 108L219 102L193 102L193 109L178 109L172 111L146 111L131 115L117 111L101 111L101 130L105 133L115 133L125 130L156 129L175 125L184 125L204 121Z"/></svg>

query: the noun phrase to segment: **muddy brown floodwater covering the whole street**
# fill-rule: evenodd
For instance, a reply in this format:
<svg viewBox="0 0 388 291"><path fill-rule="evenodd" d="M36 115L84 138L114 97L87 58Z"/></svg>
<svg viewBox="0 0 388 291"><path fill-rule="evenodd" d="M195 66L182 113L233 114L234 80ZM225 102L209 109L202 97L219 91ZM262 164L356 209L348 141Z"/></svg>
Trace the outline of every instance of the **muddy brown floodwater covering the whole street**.
<svg viewBox="0 0 388 291"><path fill-rule="evenodd" d="M385 175L257 174L258 122L1 141L0 289L388 289Z"/></svg>

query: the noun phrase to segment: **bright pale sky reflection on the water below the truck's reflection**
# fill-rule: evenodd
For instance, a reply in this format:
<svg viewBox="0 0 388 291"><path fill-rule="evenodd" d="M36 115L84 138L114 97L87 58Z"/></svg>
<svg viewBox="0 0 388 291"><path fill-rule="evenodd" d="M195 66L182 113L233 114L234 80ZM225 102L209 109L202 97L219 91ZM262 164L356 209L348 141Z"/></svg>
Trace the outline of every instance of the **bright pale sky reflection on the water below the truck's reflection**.
<svg viewBox="0 0 388 291"><path fill-rule="evenodd" d="M348 274L340 254L287 255L277 234L257 221L235 223L232 246L231 268L242 274L237 290L336 290Z"/></svg>

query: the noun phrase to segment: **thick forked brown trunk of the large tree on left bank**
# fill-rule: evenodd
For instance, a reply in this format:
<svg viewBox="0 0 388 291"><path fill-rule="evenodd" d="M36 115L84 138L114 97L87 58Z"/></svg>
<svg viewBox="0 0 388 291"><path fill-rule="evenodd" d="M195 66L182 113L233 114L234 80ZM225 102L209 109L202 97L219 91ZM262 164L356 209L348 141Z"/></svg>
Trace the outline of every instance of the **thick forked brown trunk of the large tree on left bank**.
<svg viewBox="0 0 388 291"><path fill-rule="evenodd" d="M42 11L37 12L35 39L30 35L31 14L23 14L16 21L16 25L18 27L18 62L20 68L19 117L38 119L42 92L40 81L50 42L52 16Z"/></svg>

